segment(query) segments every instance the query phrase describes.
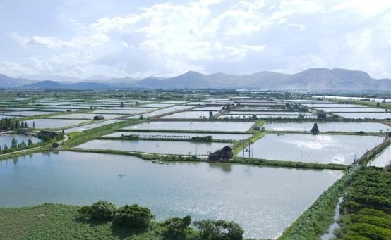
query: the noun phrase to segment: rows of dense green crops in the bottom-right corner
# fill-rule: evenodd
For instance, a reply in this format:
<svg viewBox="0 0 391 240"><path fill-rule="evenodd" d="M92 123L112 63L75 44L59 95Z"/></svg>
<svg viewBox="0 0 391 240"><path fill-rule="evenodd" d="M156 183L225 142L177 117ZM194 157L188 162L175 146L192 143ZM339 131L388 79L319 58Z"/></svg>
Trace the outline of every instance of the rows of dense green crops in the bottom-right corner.
<svg viewBox="0 0 391 240"><path fill-rule="evenodd" d="M391 172L365 168L344 197L337 239L391 239Z"/></svg>

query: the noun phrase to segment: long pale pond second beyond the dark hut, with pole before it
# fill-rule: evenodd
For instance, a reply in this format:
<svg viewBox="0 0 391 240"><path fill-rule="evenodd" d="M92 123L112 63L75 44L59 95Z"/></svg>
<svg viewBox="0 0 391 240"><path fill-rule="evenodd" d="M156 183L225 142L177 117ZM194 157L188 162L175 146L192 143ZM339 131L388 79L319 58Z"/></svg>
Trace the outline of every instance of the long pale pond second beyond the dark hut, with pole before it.
<svg viewBox="0 0 391 240"><path fill-rule="evenodd" d="M124 127L138 130L193 130L193 131L248 131L254 122L145 122L139 125Z"/></svg>

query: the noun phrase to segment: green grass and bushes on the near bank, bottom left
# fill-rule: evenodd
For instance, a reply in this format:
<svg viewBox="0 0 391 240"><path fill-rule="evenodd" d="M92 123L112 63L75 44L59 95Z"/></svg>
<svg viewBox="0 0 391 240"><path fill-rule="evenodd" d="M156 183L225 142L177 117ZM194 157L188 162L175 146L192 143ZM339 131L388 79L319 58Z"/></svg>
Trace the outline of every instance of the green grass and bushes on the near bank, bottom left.
<svg viewBox="0 0 391 240"><path fill-rule="evenodd" d="M116 208L98 201L92 206L46 203L28 208L0 208L2 240L242 240L235 222L174 217L156 222L148 208Z"/></svg>

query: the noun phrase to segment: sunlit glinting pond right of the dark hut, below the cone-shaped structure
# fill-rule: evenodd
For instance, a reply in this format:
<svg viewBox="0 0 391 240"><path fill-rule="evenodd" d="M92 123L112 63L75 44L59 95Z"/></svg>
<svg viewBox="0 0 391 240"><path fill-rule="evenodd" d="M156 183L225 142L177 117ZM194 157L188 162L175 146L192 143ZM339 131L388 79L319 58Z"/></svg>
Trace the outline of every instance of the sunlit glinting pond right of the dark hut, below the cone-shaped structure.
<svg viewBox="0 0 391 240"><path fill-rule="evenodd" d="M383 137L353 135L266 134L251 145L250 156L270 160L349 165L367 150L383 142ZM238 153L248 157L248 152Z"/></svg>

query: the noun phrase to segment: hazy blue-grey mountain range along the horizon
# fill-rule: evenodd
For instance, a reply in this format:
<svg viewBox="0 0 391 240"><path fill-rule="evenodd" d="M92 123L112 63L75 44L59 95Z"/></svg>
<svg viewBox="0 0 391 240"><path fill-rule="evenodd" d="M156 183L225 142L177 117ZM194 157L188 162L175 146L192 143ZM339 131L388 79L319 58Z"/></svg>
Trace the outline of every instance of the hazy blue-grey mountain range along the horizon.
<svg viewBox="0 0 391 240"><path fill-rule="evenodd" d="M257 89L308 91L365 91L391 89L391 79L375 80L368 73L341 68L310 68L296 74L257 72L251 75L215 73L203 75L189 71L168 78L130 77L83 82L56 82L14 79L0 75L0 88L6 89Z"/></svg>

